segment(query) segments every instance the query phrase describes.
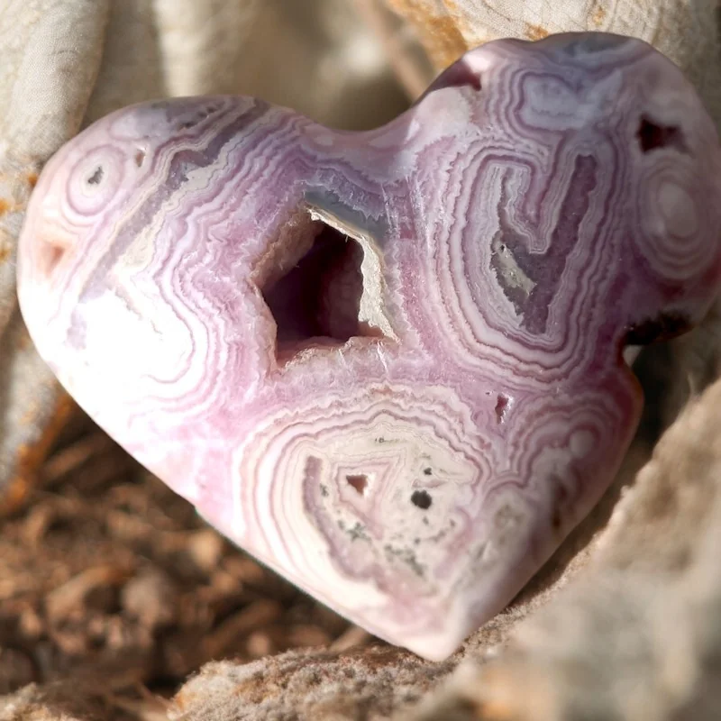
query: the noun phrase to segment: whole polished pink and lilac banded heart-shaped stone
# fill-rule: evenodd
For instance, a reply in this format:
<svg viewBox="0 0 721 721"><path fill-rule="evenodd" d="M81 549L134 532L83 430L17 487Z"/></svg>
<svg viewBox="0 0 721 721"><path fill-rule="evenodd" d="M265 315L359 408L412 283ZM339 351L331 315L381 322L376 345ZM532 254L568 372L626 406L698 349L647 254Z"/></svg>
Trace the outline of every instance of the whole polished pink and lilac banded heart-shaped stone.
<svg viewBox="0 0 721 721"><path fill-rule="evenodd" d="M641 41L473 50L372 132L239 97L68 143L23 315L96 421L237 543L440 659L603 493L627 342L719 279L721 153Z"/></svg>

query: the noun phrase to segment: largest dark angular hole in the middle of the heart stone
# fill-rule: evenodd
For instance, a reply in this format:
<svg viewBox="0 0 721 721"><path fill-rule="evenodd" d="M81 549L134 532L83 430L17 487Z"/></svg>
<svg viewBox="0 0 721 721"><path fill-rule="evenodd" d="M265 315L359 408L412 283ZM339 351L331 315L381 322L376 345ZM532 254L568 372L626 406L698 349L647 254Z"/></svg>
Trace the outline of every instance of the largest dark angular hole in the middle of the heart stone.
<svg viewBox="0 0 721 721"><path fill-rule="evenodd" d="M359 317L364 283L360 242L321 221L306 221L293 230L296 241L306 238L303 247L310 235L310 247L294 265L287 257L278 258L278 265L290 268L271 272L276 278L260 288L276 323L278 364L310 347L334 350L353 337L383 337ZM287 237L278 240L279 248L291 243Z"/></svg>

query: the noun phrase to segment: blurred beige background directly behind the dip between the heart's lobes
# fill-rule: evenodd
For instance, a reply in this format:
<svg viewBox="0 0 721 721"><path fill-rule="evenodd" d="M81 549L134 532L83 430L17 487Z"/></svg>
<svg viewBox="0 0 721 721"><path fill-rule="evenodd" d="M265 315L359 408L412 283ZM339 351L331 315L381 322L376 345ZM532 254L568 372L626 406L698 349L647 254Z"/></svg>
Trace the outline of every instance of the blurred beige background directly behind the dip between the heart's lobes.
<svg viewBox="0 0 721 721"><path fill-rule="evenodd" d="M338 0L154 0L170 95L242 93L363 128L406 98L383 47Z"/></svg>

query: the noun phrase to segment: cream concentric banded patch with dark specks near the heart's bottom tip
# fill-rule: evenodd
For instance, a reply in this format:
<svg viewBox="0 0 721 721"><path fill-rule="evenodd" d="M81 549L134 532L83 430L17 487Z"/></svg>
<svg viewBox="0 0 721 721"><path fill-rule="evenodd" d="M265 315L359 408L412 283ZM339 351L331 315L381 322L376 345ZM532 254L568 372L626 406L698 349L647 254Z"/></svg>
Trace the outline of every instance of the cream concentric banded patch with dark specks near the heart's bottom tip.
<svg viewBox="0 0 721 721"><path fill-rule="evenodd" d="M374 578L387 591L405 576L415 598L435 593L451 545L429 542L471 533L488 492L487 446L446 388L371 386L298 405L265 419L235 456L239 529L306 579L322 569L297 542L315 528L333 573ZM414 506L416 491L430 497L431 514ZM348 546L353 536L359 543ZM407 547L388 550L393 543Z"/></svg>

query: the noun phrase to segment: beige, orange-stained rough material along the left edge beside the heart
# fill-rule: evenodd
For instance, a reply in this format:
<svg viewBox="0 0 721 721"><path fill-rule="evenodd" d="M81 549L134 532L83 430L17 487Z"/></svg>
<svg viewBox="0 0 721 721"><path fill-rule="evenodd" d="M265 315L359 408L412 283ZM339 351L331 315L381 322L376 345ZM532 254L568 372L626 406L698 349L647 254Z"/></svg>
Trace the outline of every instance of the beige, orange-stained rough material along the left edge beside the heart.
<svg viewBox="0 0 721 721"><path fill-rule="evenodd" d="M78 132L108 11L107 0L5 0L0 13L0 511L61 397L20 318L15 241L42 164Z"/></svg>

